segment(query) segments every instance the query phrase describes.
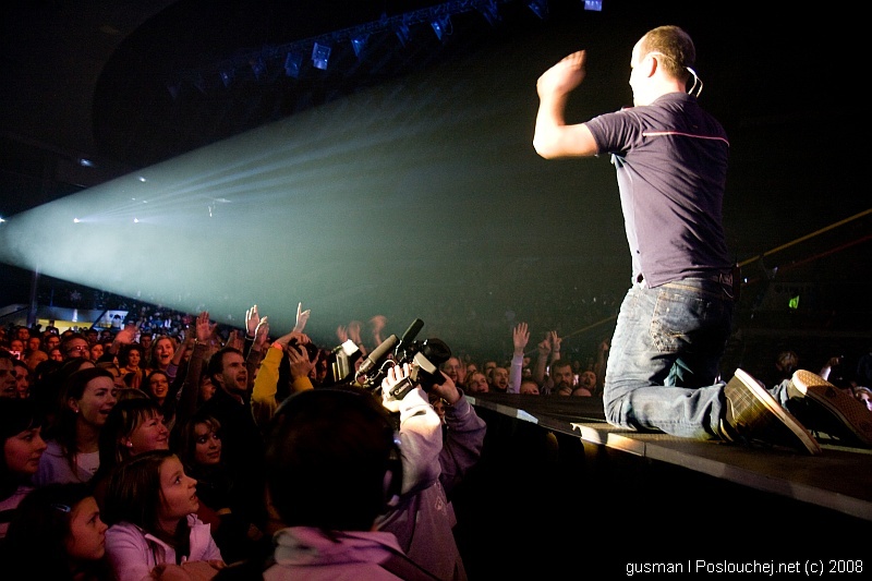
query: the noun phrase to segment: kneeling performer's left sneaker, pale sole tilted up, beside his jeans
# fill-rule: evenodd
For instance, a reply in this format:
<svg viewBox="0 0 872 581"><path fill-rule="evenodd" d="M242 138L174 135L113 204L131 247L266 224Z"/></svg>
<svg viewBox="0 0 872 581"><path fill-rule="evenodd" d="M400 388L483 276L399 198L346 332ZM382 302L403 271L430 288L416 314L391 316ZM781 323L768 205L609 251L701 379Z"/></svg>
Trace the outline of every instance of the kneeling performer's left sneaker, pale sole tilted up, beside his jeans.
<svg viewBox="0 0 872 581"><path fill-rule="evenodd" d="M724 386L726 401L722 435L729 441L763 443L798 449L810 455L821 446L790 412L785 410L756 379L736 370Z"/></svg>

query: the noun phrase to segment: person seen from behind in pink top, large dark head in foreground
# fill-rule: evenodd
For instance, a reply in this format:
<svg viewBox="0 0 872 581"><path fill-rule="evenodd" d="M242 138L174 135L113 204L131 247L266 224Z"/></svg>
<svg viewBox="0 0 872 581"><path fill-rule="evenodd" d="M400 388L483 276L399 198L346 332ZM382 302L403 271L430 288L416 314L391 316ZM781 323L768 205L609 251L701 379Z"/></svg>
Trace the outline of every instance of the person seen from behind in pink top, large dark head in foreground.
<svg viewBox="0 0 872 581"><path fill-rule="evenodd" d="M240 579L436 579L392 533L374 530L403 475L391 419L368 391L294 394L272 416L266 441L267 492L283 528L269 562L253 560Z"/></svg>

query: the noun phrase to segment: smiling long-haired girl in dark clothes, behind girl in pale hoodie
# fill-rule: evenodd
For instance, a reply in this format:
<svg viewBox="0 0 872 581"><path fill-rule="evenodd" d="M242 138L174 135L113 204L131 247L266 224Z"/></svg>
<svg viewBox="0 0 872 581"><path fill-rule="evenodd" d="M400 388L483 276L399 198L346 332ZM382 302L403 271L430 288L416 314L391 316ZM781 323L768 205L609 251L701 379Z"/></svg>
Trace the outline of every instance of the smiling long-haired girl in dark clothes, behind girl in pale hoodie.
<svg viewBox="0 0 872 581"><path fill-rule="evenodd" d="M197 481L197 516L211 525L213 536L227 562L244 560L266 549L270 540L253 523L244 501L237 498L233 474L221 461L221 423L195 413L179 429L179 457L185 473Z"/></svg>

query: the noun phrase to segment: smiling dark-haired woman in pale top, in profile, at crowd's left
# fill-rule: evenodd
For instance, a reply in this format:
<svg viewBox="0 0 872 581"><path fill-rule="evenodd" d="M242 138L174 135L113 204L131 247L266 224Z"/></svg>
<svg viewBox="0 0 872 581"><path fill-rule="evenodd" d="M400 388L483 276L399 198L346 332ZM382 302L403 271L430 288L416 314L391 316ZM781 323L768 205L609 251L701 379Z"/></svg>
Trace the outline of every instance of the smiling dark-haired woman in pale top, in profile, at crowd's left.
<svg viewBox="0 0 872 581"><path fill-rule="evenodd" d="M34 475L37 486L94 477L100 465L100 431L116 404L112 374L94 366L73 373L63 384L58 404L48 449Z"/></svg>

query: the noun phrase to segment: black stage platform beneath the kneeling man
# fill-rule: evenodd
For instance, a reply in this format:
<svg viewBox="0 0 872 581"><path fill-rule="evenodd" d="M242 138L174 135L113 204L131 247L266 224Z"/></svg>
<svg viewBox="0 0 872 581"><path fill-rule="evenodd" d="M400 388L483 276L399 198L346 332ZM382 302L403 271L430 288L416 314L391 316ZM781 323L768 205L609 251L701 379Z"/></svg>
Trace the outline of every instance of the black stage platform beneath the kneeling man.
<svg viewBox="0 0 872 581"><path fill-rule="evenodd" d="M488 426L480 465L452 497L470 579L867 559L872 450L822 440L811 457L629 432L594 398L467 398Z"/></svg>

